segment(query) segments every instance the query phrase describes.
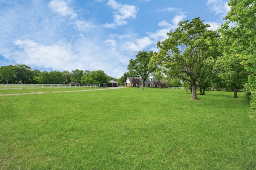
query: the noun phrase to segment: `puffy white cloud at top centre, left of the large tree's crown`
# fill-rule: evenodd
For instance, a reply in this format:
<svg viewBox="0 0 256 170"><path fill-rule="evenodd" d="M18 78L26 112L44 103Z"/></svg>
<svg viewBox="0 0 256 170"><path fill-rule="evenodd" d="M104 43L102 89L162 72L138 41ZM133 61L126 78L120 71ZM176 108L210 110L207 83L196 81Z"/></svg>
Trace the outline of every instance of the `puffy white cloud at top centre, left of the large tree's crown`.
<svg viewBox="0 0 256 170"><path fill-rule="evenodd" d="M109 0L107 5L113 8L114 11L114 23L106 23L103 26L106 28L113 28L120 25L125 25L126 20L129 18L136 18L137 10L135 6L132 5L122 5L115 0Z"/></svg>

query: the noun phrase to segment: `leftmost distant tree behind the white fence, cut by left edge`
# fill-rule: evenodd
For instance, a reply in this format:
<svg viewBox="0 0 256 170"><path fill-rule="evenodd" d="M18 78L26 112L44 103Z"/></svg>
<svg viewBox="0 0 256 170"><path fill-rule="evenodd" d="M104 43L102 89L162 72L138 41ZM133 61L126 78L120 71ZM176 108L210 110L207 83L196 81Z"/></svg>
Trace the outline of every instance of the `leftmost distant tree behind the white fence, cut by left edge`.
<svg viewBox="0 0 256 170"><path fill-rule="evenodd" d="M1 66L0 67L0 78L2 82L9 83L10 80L14 79L17 75L17 70L14 66Z"/></svg>

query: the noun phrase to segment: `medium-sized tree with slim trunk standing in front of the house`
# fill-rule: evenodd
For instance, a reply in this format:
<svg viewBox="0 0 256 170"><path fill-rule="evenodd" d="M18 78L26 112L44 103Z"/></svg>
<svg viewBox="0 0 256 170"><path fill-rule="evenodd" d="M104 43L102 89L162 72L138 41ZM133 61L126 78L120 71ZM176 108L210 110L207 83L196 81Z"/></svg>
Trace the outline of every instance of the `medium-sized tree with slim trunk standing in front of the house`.
<svg viewBox="0 0 256 170"><path fill-rule="evenodd" d="M144 82L148 76L150 76L150 74L156 70L156 67L154 66L148 67L150 59L154 54L155 53L153 51L140 51L137 53L136 59L131 59L128 65L129 71L136 72L136 74L141 77L142 90L144 90Z"/></svg>

